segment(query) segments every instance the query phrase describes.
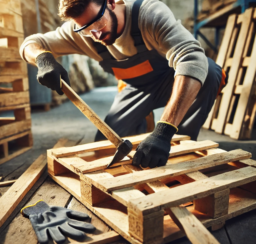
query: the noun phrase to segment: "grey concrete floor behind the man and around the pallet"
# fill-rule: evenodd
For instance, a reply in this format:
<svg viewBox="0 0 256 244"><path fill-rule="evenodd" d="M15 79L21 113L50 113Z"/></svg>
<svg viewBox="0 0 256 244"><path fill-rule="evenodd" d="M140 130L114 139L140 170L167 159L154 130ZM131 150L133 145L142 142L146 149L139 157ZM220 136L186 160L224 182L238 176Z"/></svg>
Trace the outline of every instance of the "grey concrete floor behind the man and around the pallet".
<svg viewBox="0 0 256 244"><path fill-rule="evenodd" d="M81 95L81 98L104 119L117 93L116 87L96 88L93 91ZM163 108L154 110L155 121L158 121ZM54 107L48 112L32 112L33 148L0 165L0 176L4 180L17 179L29 165L42 153L46 153L58 141L59 138L70 140L80 139L82 143L94 141L96 127L74 106L67 101L61 106ZM256 160L256 130L252 140L236 141L228 136L216 134L213 131L201 129L198 140L212 140L219 143L219 147L227 151L242 148L252 153L252 159ZM0 189L3 194L7 188ZM256 243L256 211L250 211L239 217L226 221L225 228L215 231L213 234L220 243ZM235 231L238 229L239 231ZM174 243L190 243L186 238Z"/></svg>

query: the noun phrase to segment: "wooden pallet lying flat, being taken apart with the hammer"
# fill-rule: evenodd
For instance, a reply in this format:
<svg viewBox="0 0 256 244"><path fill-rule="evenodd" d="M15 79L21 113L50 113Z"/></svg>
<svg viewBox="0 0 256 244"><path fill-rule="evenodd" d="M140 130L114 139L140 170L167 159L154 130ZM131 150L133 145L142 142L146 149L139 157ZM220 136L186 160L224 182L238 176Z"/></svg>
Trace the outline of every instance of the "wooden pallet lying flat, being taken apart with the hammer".
<svg viewBox="0 0 256 244"><path fill-rule="evenodd" d="M135 149L147 135L126 139ZM175 135L171 144L166 166L153 169L133 166L135 151L106 168L109 141L50 149L48 173L131 243L167 243L185 233L192 243L218 243L205 227L221 228L256 208L256 161L209 140Z"/></svg>

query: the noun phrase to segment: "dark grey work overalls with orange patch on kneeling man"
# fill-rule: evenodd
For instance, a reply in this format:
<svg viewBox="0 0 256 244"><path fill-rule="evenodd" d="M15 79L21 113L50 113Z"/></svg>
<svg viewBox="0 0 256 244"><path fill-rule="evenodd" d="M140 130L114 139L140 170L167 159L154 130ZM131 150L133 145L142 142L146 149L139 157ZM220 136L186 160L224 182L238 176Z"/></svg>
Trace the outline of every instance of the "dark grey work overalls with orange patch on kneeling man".
<svg viewBox="0 0 256 244"><path fill-rule="evenodd" d="M115 60L105 46L95 43L98 54L103 58L100 62L102 68L127 83L126 88L115 96L105 118L105 122L120 137L145 133L145 117L152 110L166 106L174 83L175 70L169 66L168 60L155 49L149 51L144 44L138 28L141 4L142 0L137 0L132 7L131 35L138 51L136 55L125 60ZM189 135L191 140L197 139L222 80L222 68L210 58L208 63L206 81L178 126L178 134ZM99 140L106 140L100 131L95 137L95 141Z"/></svg>

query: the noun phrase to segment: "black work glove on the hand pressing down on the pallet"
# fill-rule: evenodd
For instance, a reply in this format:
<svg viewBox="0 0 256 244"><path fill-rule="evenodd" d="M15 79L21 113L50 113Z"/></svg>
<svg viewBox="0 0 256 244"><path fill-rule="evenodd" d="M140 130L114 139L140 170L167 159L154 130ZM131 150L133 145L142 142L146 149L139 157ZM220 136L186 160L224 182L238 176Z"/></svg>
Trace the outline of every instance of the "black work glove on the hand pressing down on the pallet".
<svg viewBox="0 0 256 244"><path fill-rule="evenodd" d="M154 131L136 148L132 164L143 168L164 166L170 155L171 140L178 129L167 122L158 121Z"/></svg>

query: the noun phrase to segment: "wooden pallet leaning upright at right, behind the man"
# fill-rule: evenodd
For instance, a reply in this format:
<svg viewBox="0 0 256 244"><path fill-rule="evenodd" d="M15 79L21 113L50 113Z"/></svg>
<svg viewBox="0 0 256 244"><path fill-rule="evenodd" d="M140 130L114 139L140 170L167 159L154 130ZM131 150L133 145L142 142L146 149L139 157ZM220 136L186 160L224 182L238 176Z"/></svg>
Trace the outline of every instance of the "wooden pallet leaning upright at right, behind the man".
<svg viewBox="0 0 256 244"><path fill-rule="evenodd" d="M249 139L256 115L256 9L230 15L216 63L228 72L228 84L215 101L205 129Z"/></svg>

